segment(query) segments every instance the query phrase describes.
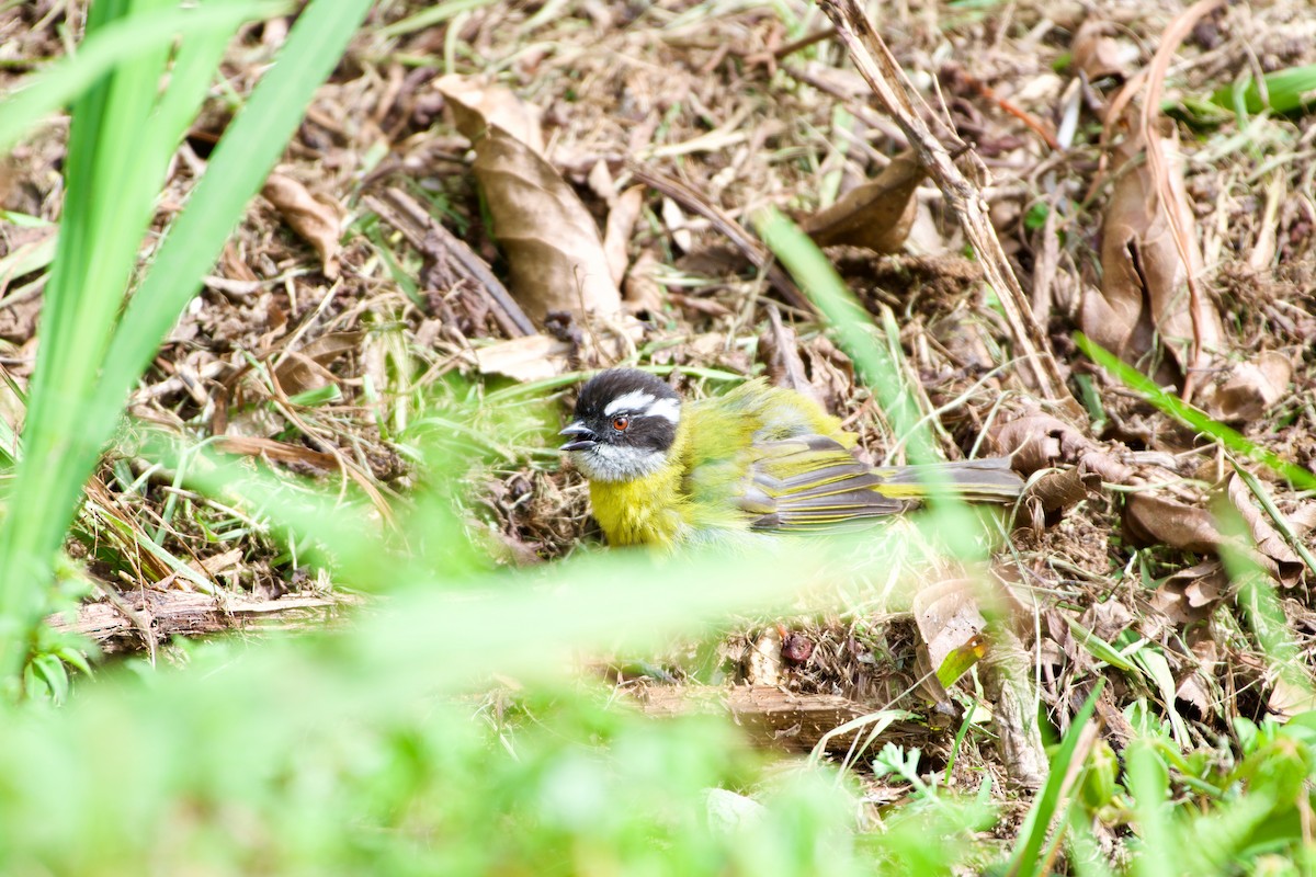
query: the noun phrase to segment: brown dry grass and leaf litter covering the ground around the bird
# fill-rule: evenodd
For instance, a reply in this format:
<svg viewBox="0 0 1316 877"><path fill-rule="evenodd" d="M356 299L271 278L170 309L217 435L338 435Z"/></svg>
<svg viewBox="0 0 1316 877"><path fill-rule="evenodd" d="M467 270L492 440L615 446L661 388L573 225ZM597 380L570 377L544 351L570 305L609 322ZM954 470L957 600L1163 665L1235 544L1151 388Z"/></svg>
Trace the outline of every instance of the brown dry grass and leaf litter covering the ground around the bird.
<svg viewBox="0 0 1316 877"><path fill-rule="evenodd" d="M650 682L646 710L725 701L761 740L794 748L825 735L820 715L908 710L903 739L945 763L978 678L1001 746L971 735L951 780L986 770L1026 786L1045 773L1034 701L1065 730L1107 675L1116 684L1098 713L1115 748L1138 701L1184 743L1228 732L1234 717L1292 711L1302 698L1266 672L1240 621L1221 567L1234 536L1213 509L1246 522L1241 548L1282 589L1305 653L1311 497L1245 459L1255 479L1242 479L1216 444L1096 369L1073 333L1313 467L1316 116L1240 129L1188 100L1253 64L1316 62L1309 16L1241 4L1187 21L1154 4L1098 4L1104 26L1076 4L901 4L880 22L883 45L853 4L828 3L826 16L787 5L799 14L790 28L767 7L586 3L540 17L533 4L490 4L390 37L379 26L409 11L376 13L133 414L366 488L380 515L418 477L396 440L416 398L455 392L454 377L487 392L542 381L534 396L566 400L558 379L621 360L674 367L691 393L716 391L709 375L762 368L845 418L874 463L899 462L900 438L853 363L751 231L755 212L776 206L826 246L899 342L904 389L940 451L1013 452L1034 484L992 569L937 569L941 592L908 605L863 592L822 614L746 622L721 647L725 690L672 660L684 688ZM0 14L7 60L58 54L53 4ZM245 33L232 88L250 87L271 38ZM438 76L450 38L468 53ZM0 84L12 71L0 66ZM1178 109L1162 113L1162 97ZM217 100L190 133L162 222L226 122ZM58 220L63 135L53 125L14 155L0 206ZM49 227L0 222L0 338L16 387L32 366ZM597 540L579 477L545 452L553 431L500 435L467 473L471 525L503 561ZM82 521L96 550L71 548L114 597L89 598L75 627L154 648L225 618L336 605L303 571L271 565L279 551L259 522L216 542L164 514L179 501L209 523L243 510L168 473L124 477L130 447L114 459ZM186 573L139 559L157 533ZM1000 605L980 605L983 593ZM142 614L164 617L171 601L201 621ZM1165 673L1112 675L1091 636L1142 640ZM948 656L978 642L976 676L937 684Z"/></svg>

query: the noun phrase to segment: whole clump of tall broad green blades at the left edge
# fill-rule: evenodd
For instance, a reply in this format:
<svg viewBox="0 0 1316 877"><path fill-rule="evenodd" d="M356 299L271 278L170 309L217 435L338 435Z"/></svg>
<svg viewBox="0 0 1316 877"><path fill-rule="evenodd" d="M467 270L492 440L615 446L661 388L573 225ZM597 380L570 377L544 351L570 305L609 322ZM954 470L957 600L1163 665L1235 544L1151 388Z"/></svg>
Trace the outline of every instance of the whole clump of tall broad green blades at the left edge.
<svg viewBox="0 0 1316 877"><path fill-rule="evenodd" d="M5 100L0 149L75 97L63 221L45 289L24 454L9 496L24 513L0 525L0 680L9 694L29 651L29 631L49 609L53 559L128 391L196 293L368 3L318 0L300 16L120 316L164 171L229 38L243 20L276 9L171 5L93 4L86 51Z"/></svg>

